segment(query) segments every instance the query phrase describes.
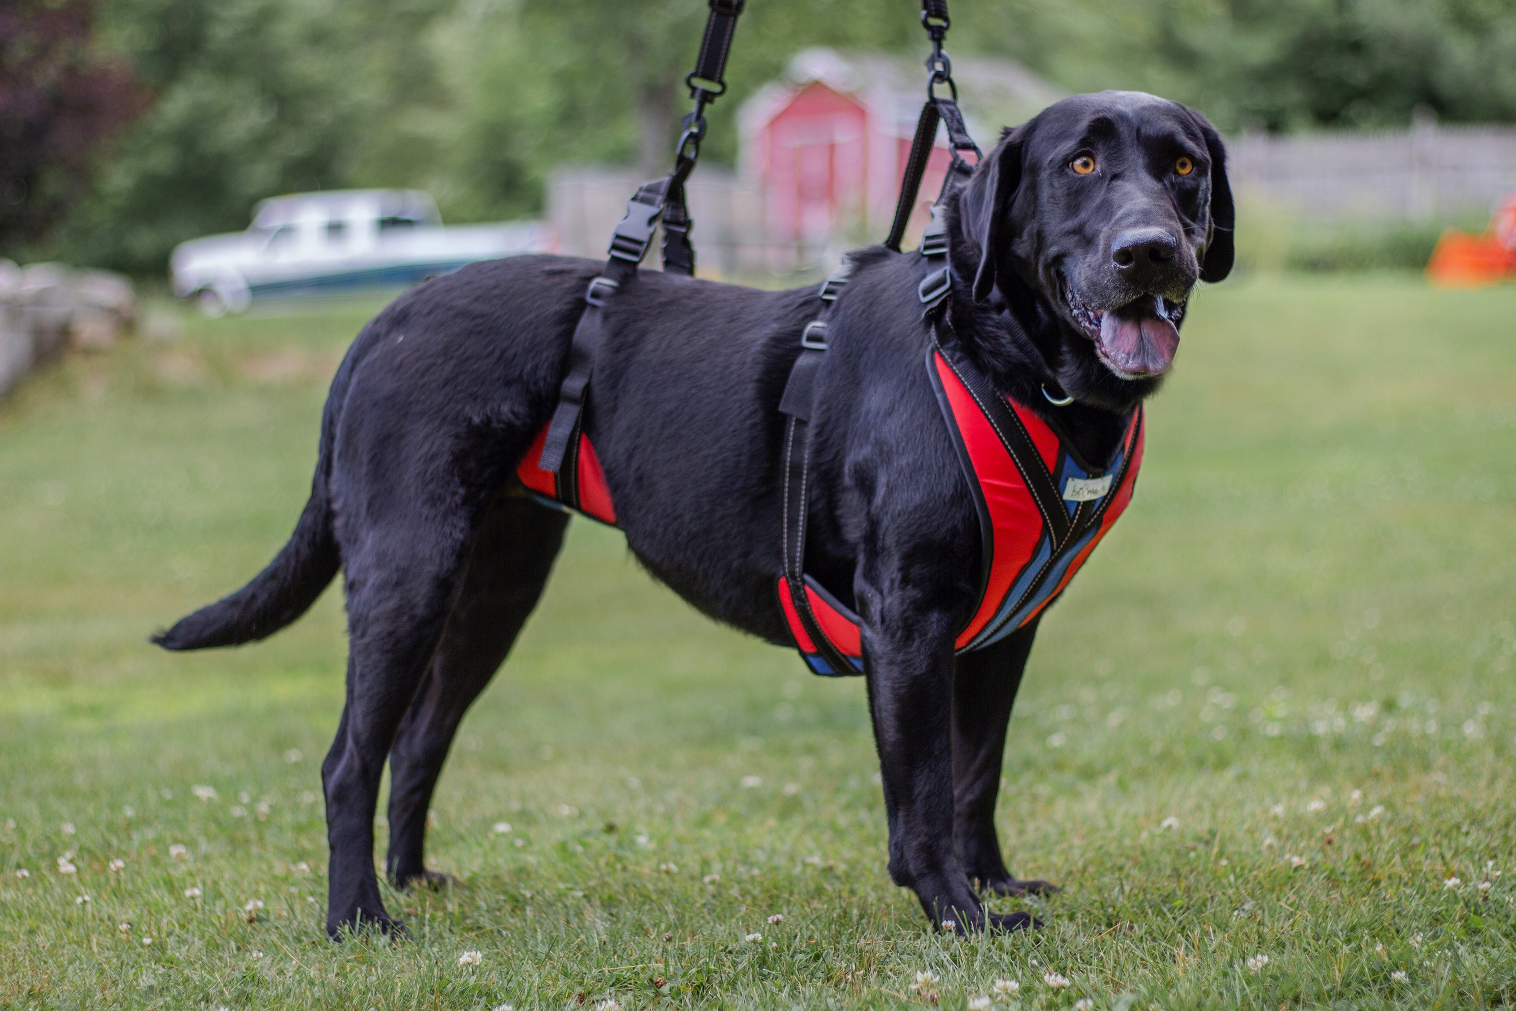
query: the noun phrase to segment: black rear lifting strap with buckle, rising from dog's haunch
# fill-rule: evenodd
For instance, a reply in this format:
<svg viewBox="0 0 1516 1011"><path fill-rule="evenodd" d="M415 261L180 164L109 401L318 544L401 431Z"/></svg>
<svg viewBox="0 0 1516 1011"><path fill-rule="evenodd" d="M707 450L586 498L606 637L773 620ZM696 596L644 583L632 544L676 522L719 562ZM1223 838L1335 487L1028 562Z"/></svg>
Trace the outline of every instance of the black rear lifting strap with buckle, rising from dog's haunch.
<svg viewBox="0 0 1516 1011"><path fill-rule="evenodd" d="M684 133L673 171L662 179L643 183L626 202L626 217L611 235L611 258L600 276L590 282L585 291L585 309L575 326L568 347L568 373L558 390L558 406L547 424L540 467L555 474L558 500L570 508L579 506L578 458L579 432L584 426L584 405L590 394L590 374L600 350L605 332L605 302L637 276L637 265L647 255L658 223L664 226L664 270L678 274L694 274L694 246L690 244L690 211L685 206L684 183L700 156L700 141L705 138L705 106L716 102L725 91L722 74L732 45L737 17L746 0L709 0L711 14L705 20L705 36L700 39L700 55L694 71L685 77L694 109L684 117ZM565 467L564 464L568 464Z"/></svg>

